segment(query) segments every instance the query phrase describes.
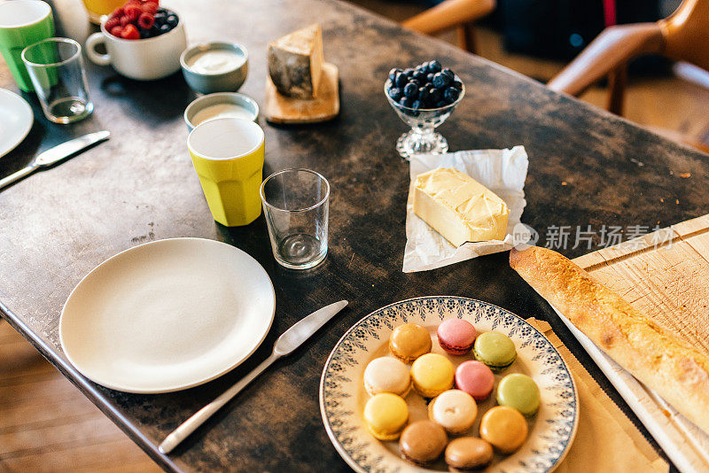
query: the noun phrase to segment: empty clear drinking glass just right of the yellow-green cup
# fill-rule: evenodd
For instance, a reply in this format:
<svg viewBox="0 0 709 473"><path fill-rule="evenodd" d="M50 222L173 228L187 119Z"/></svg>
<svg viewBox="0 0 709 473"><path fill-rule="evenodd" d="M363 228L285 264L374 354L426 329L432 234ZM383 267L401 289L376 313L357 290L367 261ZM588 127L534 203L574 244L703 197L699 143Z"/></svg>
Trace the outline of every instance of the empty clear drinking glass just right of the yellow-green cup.
<svg viewBox="0 0 709 473"><path fill-rule="evenodd" d="M263 214L278 264L313 268L327 254L330 183L309 169L284 169L261 183Z"/></svg>

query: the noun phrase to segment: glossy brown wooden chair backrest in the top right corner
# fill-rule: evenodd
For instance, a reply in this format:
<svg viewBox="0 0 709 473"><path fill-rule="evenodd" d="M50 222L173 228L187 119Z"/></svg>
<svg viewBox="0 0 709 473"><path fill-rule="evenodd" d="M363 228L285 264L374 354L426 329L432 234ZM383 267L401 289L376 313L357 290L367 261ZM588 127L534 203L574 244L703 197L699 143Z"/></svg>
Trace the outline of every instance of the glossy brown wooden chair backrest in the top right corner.
<svg viewBox="0 0 709 473"><path fill-rule="evenodd" d="M709 0L684 0L658 22L665 39L664 53L709 71Z"/></svg>

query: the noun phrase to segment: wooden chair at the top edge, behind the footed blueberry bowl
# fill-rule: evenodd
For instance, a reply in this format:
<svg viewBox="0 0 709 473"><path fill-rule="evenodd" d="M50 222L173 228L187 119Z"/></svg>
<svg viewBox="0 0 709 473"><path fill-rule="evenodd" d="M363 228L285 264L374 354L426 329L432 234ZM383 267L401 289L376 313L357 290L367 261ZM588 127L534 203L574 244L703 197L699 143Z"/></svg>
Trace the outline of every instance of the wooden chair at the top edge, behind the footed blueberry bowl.
<svg viewBox="0 0 709 473"><path fill-rule="evenodd" d="M495 0L445 0L401 24L425 35L435 35L456 27L458 47L475 52L473 22L493 10Z"/></svg>

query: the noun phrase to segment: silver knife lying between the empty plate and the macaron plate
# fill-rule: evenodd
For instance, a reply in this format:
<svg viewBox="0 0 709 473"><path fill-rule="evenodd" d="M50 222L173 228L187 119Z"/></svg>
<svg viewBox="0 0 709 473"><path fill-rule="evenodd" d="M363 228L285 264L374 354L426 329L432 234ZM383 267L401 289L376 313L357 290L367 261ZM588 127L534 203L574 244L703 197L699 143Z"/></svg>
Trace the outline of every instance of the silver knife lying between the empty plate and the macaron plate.
<svg viewBox="0 0 709 473"><path fill-rule="evenodd" d="M160 453L169 454L173 451L175 446L180 445L180 443L189 435L197 430L197 428L205 423L205 421L211 417L216 411L218 411L224 404L230 401L231 398L236 396L238 392L246 387L247 384L251 383L256 376L261 375L264 369L269 368L269 366L277 361L282 356L291 354L293 350L298 348L303 342L308 340L308 338L316 333L325 322L329 321L333 315L337 314L340 310L347 306L347 300L340 300L335 302L330 306L324 306L322 309L316 310L313 314L308 315L303 318L300 322L297 322L290 329L285 330L284 334L278 337L276 344L273 345L273 353L263 361L259 366L253 368L253 371L246 375L237 384L231 386L227 391L223 392L221 396L214 399L212 402L202 407L192 415L189 419L180 424L177 429L173 430L172 433L168 435L165 440L158 447Z"/></svg>

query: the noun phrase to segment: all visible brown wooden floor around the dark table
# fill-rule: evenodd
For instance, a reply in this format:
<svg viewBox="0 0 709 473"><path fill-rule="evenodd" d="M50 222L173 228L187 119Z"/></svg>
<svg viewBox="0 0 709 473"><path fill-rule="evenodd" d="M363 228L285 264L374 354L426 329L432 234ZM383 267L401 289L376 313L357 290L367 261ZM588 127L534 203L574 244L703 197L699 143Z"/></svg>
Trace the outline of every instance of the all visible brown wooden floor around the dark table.
<svg viewBox="0 0 709 473"><path fill-rule="evenodd" d="M391 0L356 0L392 19L420 7ZM441 35L453 40L452 34ZM479 54L522 74L547 81L564 65L503 50L499 35L478 29ZM604 89L583 97L602 106ZM627 118L641 125L681 131L707 142L709 89L681 79L633 80L627 91ZM0 472L151 472L152 461L97 407L0 322Z"/></svg>

